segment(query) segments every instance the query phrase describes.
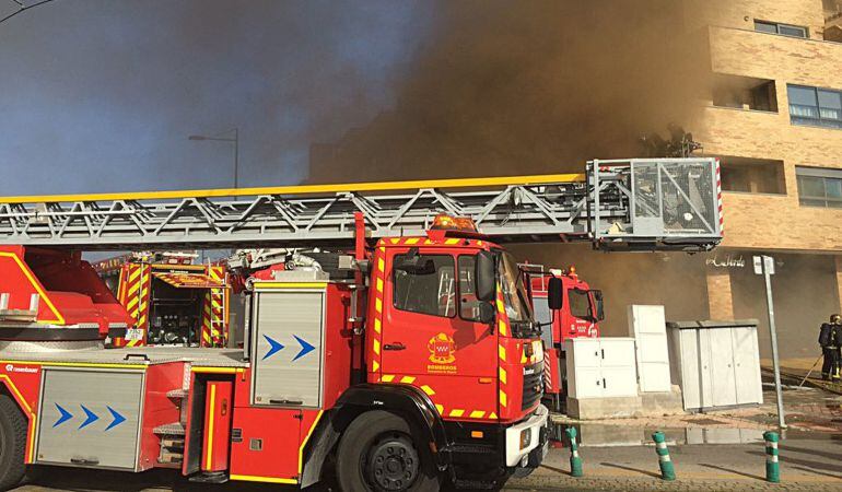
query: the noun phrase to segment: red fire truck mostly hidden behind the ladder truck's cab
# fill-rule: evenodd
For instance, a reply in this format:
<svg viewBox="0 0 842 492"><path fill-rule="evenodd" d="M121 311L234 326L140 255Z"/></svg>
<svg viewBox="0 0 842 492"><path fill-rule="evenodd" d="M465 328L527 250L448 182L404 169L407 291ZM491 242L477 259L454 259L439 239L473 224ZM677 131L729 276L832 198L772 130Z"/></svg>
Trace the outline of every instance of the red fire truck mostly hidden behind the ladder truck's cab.
<svg viewBox="0 0 842 492"><path fill-rule="evenodd" d="M534 268L533 268L534 271ZM548 304L549 279L561 281L562 307L550 312ZM575 267L566 270L550 269L547 274L533 274L533 305L535 318L542 325L545 397L554 411L563 409L564 341L569 338L599 337L599 321L605 319L603 292L590 286L576 274Z"/></svg>

